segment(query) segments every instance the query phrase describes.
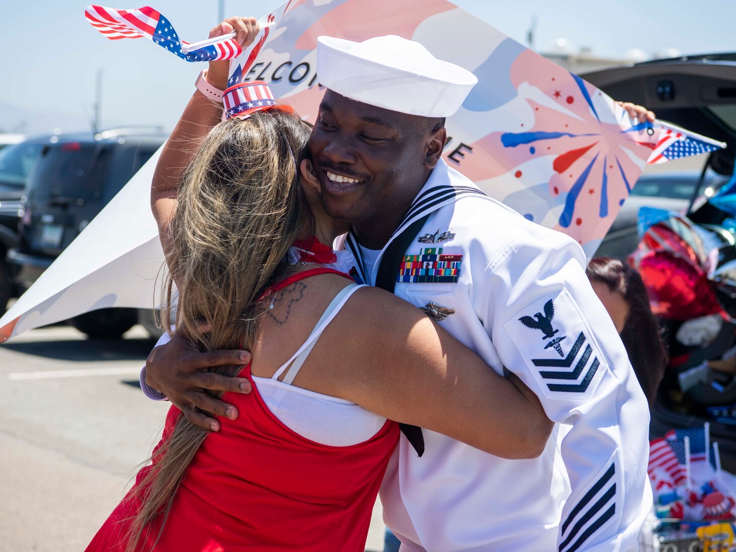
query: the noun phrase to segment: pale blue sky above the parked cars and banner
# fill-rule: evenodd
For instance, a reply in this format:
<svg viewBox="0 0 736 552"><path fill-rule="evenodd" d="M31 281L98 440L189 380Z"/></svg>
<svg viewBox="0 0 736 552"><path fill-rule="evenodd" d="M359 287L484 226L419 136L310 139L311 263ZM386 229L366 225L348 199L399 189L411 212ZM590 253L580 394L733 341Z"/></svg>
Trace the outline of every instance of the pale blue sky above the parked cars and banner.
<svg viewBox="0 0 736 552"><path fill-rule="evenodd" d="M118 4L134 8L144 4ZM283 0L224 0L226 15L260 17ZM376 0L364 0L376 1ZM422 1L422 0L417 0ZM464 10L534 48L565 39L573 52L623 58L734 52L736 0L454 0ZM149 0L192 42L215 26L217 0ZM71 0L5 2L0 7L0 131L84 130L91 120L96 73L102 69L102 127L146 124L171 130L205 64L187 63L148 40L107 40L87 23L87 4ZM381 29L376 29L381 35ZM483 40L473 37L469 40ZM472 42L469 43L472 46ZM158 51L160 50L160 52Z"/></svg>

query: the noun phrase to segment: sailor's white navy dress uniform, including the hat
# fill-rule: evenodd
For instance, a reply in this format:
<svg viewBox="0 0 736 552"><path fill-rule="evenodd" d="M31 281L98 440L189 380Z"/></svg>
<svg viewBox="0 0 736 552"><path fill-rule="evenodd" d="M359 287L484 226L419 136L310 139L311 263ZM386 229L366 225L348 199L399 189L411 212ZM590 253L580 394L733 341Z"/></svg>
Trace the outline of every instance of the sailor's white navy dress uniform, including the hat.
<svg viewBox="0 0 736 552"><path fill-rule="evenodd" d="M475 83L398 37L321 37L317 71L342 96L427 117L452 115ZM529 460L427 430L418 456L402 437L381 489L402 551L637 550L651 509L648 407L576 241L440 161L383 250L352 233L336 248L353 254L365 283L390 278L395 294L490 367L518 375L556 422L542 456Z"/></svg>

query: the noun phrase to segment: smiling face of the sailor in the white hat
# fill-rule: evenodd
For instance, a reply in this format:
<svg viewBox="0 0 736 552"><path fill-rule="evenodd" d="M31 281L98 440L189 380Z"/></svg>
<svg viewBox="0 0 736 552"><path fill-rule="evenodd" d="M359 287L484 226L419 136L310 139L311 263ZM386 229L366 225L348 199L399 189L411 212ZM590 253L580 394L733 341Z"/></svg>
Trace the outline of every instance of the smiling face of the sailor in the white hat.
<svg viewBox="0 0 736 552"><path fill-rule="evenodd" d="M359 237L380 226L390 236L441 155L433 121L326 91L309 139L325 211Z"/></svg>

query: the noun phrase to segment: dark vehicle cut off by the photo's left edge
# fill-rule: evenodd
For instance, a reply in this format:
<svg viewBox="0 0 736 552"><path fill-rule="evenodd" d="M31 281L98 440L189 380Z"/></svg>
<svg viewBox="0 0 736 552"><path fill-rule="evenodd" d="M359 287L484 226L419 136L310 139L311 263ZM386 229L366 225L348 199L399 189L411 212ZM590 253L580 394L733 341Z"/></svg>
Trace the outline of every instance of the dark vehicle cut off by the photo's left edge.
<svg viewBox="0 0 736 552"><path fill-rule="evenodd" d="M21 199L26 180L50 136L32 138L0 150L0 315L7 300L15 297L13 266L5 255L18 244L18 217L23 214Z"/></svg>

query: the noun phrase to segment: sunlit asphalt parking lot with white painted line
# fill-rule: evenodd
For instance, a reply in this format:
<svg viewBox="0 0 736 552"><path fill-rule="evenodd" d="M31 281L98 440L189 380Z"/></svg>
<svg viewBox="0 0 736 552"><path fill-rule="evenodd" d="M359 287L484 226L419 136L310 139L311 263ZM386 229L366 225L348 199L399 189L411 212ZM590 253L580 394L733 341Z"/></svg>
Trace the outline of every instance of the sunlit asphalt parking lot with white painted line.
<svg viewBox="0 0 736 552"><path fill-rule="evenodd" d="M122 498L169 407L138 388L153 344L141 326L54 326L0 345L0 552L81 551ZM378 503L367 550L383 550Z"/></svg>

